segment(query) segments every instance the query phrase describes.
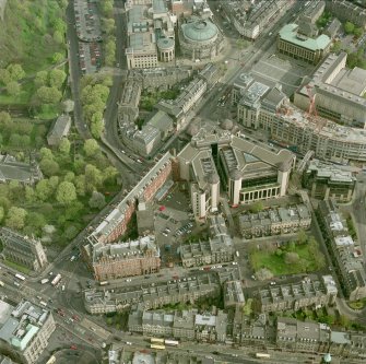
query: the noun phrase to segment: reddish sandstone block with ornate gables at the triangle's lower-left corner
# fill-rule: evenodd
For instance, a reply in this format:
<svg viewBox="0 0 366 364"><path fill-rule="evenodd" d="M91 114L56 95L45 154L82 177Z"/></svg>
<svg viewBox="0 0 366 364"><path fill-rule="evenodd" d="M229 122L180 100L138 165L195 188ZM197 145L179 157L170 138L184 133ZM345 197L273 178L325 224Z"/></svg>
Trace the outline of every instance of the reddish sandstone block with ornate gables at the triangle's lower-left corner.
<svg viewBox="0 0 366 364"><path fill-rule="evenodd" d="M134 242L87 245L84 249L96 281L156 273L161 268L160 249L154 235Z"/></svg>

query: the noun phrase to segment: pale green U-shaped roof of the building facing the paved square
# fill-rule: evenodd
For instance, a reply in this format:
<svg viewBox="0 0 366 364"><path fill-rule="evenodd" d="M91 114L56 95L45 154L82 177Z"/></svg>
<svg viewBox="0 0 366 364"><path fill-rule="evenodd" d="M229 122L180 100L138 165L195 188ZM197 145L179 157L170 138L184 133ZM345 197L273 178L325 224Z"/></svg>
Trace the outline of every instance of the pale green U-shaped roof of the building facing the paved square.
<svg viewBox="0 0 366 364"><path fill-rule="evenodd" d="M331 43L331 39L328 35L321 34L315 39L308 38L302 34L298 34L297 28L297 24L286 24L280 30L279 36L285 42L310 50L326 49Z"/></svg>

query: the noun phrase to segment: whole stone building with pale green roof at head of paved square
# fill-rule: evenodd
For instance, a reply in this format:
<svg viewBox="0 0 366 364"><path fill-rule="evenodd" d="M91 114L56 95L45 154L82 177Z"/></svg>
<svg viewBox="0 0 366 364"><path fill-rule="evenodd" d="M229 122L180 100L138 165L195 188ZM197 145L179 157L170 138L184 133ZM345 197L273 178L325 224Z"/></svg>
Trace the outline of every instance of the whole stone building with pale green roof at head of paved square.
<svg viewBox="0 0 366 364"><path fill-rule="evenodd" d="M318 64L329 52L331 39L321 34L311 38L297 24L284 25L278 35L276 49L280 54Z"/></svg>

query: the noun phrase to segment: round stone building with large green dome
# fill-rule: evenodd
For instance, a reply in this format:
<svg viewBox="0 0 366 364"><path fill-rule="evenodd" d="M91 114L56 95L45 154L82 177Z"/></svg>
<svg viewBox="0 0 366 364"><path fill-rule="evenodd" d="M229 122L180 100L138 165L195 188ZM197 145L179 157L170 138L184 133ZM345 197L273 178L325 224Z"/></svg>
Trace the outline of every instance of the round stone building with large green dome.
<svg viewBox="0 0 366 364"><path fill-rule="evenodd" d="M191 60L214 58L224 47L224 37L210 20L191 17L179 30L181 54Z"/></svg>

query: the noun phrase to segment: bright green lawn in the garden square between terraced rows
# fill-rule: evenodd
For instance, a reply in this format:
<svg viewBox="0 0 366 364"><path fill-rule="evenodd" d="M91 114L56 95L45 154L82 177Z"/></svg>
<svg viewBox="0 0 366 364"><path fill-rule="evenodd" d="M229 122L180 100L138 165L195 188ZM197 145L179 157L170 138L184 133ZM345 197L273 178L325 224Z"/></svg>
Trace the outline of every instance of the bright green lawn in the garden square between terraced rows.
<svg viewBox="0 0 366 364"><path fill-rule="evenodd" d="M269 269L274 275L286 275L306 273L319 270L309 251L308 244L297 245L294 253L298 254L299 260L305 260L307 266L287 265L284 255L278 256L274 253L258 250L250 256L250 261L255 271L261 268ZM320 251L319 251L320 254Z"/></svg>

